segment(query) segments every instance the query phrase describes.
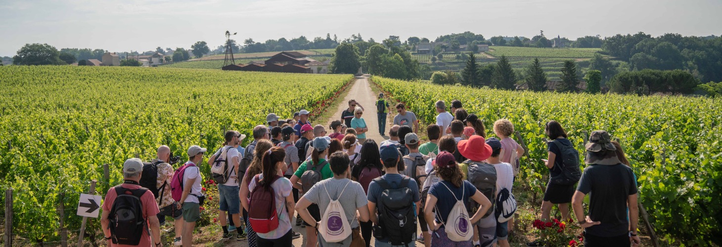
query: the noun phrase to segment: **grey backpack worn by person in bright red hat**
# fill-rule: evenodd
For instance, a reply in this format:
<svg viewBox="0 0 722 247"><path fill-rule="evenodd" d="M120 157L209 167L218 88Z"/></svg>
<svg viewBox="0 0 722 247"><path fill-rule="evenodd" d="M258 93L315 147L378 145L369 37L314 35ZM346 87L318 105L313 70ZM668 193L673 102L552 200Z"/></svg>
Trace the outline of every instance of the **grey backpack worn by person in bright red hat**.
<svg viewBox="0 0 722 247"><path fill-rule="evenodd" d="M468 160L466 163L469 164L469 173L467 173L466 179L469 180L474 187L477 187L484 196L487 196L489 202L492 203L491 208L484 214L483 218L485 218L494 212L494 202L496 202L496 168L494 168L494 165L483 162L471 162L471 160ZM476 202L474 202L474 205L476 205Z"/></svg>

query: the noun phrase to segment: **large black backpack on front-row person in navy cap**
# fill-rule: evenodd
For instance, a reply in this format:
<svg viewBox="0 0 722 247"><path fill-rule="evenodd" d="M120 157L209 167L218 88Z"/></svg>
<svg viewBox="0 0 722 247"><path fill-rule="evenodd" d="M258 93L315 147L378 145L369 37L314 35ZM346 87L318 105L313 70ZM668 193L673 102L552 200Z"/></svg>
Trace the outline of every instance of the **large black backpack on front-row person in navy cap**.
<svg viewBox="0 0 722 247"><path fill-rule="evenodd" d="M378 227L374 236L380 235L391 241L393 246L401 246L414 241L416 235L416 209L414 192L408 188L411 179L404 177L396 188L391 188L383 178L375 178L381 188L378 198ZM372 212L373 213L373 212Z"/></svg>

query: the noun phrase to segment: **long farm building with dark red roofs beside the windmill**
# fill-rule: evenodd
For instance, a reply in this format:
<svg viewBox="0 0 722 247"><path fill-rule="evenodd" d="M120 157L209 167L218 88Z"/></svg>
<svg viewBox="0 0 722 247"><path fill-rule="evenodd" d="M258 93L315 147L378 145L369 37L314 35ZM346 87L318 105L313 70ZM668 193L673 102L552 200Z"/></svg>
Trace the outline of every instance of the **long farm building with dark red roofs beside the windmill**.
<svg viewBox="0 0 722 247"><path fill-rule="evenodd" d="M224 66L223 70L242 71L268 71L286 73L325 74L329 71L329 64L308 58L303 53L284 51L277 53L266 61L250 61L248 64L235 64L237 66Z"/></svg>

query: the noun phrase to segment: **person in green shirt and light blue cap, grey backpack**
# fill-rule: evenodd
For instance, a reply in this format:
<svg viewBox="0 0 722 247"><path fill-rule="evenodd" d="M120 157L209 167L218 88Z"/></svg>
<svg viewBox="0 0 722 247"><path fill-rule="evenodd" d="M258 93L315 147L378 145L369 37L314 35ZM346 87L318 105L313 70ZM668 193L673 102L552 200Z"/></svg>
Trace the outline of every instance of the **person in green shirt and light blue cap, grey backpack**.
<svg viewBox="0 0 722 247"><path fill-rule="evenodd" d="M303 185L299 182L301 179L301 176L303 176L303 173L306 172L308 169L307 167L311 164L321 165L323 162L326 162L326 159L324 157L327 157L329 155L329 144L330 141L326 139L323 136L316 137L311 141L311 147L313 147L313 152L311 152L311 159L306 160L298 167L298 170L296 170L295 173L293 173L293 176L291 177L291 184L293 188L298 189L298 193L305 193L306 191L303 191ZM323 165L321 168L321 180L329 179L334 177L334 172L331 171L331 165L329 165L328 162L326 162L326 165ZM306 186L310 188L313 185ZM321 221L321 209L318 208L317 204L312 204L308 206L308 212L311 216L313 216L314 219L316 219L316 222ZM318 236L316 235L316 228L314 228L311 225L308 225L307 222L303 222L303 225L306 227L306 246L316 246L316 242L318 241Z"/></svg>

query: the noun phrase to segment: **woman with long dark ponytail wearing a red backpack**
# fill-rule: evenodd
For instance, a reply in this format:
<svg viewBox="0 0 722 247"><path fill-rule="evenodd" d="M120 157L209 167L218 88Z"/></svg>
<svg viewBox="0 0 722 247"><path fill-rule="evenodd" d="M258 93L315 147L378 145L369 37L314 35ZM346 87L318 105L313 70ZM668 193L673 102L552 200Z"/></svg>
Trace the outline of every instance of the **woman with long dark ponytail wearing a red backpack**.
<svg viewBox="0 0 722 247"><path fill-rule="evenodd" d="M293 246L294 233L291 230L290 216L293 215L296 204L293 201L293 194L291 194L291 181L283 177L284 170L286 170L286 163L284 162L286 151L282 147L274 147L261 155L263 173L257 174L251 179L248 190L253 191L256 186L273 188L278 214L278 227L269 233L256 233L258 235L256 241L258 246ZM253 206L258 201L249 203L249 206Z"/></svg>

